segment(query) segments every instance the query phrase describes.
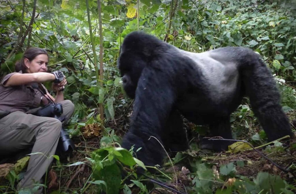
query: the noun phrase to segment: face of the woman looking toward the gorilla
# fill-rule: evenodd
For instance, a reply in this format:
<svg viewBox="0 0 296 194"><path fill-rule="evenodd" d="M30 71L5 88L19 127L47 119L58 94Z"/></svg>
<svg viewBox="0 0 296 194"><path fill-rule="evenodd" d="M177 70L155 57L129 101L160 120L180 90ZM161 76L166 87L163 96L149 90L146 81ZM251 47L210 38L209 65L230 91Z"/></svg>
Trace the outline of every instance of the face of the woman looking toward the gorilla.
<svg viewBox="0 0 296 194"><path fill-rule="evenodd" d="M46 72L48 57L46 54L40 54L35 57L32 61L29 59L24 60L28 73Z"/></svg>

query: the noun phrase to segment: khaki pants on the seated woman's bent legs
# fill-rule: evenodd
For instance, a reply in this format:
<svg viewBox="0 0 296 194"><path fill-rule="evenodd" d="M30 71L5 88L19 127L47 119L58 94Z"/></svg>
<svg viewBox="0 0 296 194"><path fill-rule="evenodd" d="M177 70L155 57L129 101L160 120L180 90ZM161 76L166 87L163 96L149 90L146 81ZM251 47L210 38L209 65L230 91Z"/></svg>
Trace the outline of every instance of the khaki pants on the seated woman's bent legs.
<svg viewBox="0 0 296 194"><path fill-rule="evenodd" d="M61 102L63 114L67 119L73 114L74 104L70 100ZM0 154L11 154L33 145L27 172L19 182L18 189L40 183L50 163L53 160L62 123L52 117L38 117L15 111L0 119ZM38 190L42 193L42 188Z"/></svg>

